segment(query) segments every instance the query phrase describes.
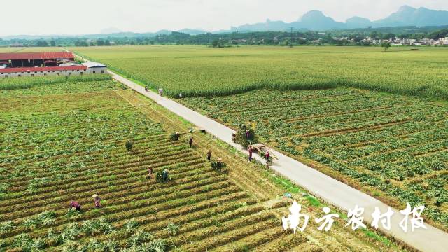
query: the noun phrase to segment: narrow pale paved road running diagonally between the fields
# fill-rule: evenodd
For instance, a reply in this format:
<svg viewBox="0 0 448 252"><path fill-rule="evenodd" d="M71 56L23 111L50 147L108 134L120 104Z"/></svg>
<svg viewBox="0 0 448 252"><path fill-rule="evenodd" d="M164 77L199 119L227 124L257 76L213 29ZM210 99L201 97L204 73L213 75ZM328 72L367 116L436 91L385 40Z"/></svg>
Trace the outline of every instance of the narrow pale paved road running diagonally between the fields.
<svg viewBox="0 0 448 252"><path fill-rule="evenodd" d="M169 111L176 113L178 116L185 118L190 123L193 123L198 127L206 129L209 134L213 134L248 155L246 150L243 150L241 146L233 143L232 133L235 131L229 127L211 120L210 118L207 118L192 109L188 109L186 106L178 104L171 99L160 97L160 95L155 92L146 92L144 87L141 87L141 85L138 85L131 80L127 80L126 78L118 76L112 72L111 74L113 78L118 80L120 83L123 83L133 90L144 94L146 97L153 99L153 101L157 102L161 106L164 106L166 109L169 109ZM381 210L381 213L385 213L388 210L388 206L386 204L383 204L370 195L347 186L336 179L332 179L330 176L318 172L317 170L308 167L293 158L289 158L278 151L271 150L271 152L279 158L279 160L276 160L272 165L272 169L279 172L279 174L286 176L291 181L294 181L297 185L302 186L302 188L309 190L317 197L321 197L325 200L325 202L334 204L336 207L339 207L344 211L349 211L349 209L353 209L356 205L363 207L365 209L363 214L365 217L365 223L370 224L372 222L371 214L375 207L378 207ZM418 228L414 230L414 232L410 230L409 225L409 230L405 233L399 226L399 223L402 221L404 216L400 214L400 211L397 209L393 209L393 211L395 214L393 214L391 218L391 230L385 230L382 228L380 223L379 229L382 232L391 235L395 239L400 240L419 251L448 251L448 234L446 232L425 224L427 229Z"/></svg>

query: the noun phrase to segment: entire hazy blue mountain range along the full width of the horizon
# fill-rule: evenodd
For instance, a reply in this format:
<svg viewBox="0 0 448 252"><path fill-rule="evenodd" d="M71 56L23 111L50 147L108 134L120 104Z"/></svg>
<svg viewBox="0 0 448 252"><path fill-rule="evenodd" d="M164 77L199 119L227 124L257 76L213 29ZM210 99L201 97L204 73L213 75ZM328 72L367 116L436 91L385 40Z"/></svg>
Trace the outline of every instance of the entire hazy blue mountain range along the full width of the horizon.
<svg viewBox="0 0 448 252"><path fill-rule="evenodd" d="M241 25L239 27L231 27L230 30L212 31L214 34L231 33L231 32L253 32L253 31L288 31L291 27L295 30L313 30L328 31L342 29L363 29L363 28L380 28L380 27L441 27L448 25L448 11L430 10L428 8L412 8L411 6L401 6L397 12L392 13L387 18L371 21L367 18L353 17L346 22L336 22L334 19L325 16L321 11L311 10L304 14L302 18L296 22L283 22L266 20L266 22ZM190 35L205 34L208 31L200 29L181 29L182 32ZM137 36L158 36L163 34L171 34L172 31L161 30L148 33L123 32L115 27L103 29L101 34L85 34L85 35L48 35L48 36L6 36L3 39L39 39L39 38L62 38L62 37L82 37L82 38L107 38L107 37L137 37Z"/></svg>

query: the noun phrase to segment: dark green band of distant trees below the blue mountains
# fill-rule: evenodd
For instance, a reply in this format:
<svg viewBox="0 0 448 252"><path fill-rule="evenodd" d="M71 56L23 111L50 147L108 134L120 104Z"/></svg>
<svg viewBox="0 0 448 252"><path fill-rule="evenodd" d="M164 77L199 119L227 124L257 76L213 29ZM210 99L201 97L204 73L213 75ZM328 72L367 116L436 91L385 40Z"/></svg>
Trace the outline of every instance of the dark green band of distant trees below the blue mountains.
<svg viewBox="0 0 448 252"><path fill-rule="evenodd" d="M363 41L367 36L373 39L400 38L432 38L438 39L448 36L448 29L440 29L432 32L416 32L410 34L393 34L392 32L349 30L349 31L262 31L262 32L233 32L230 34L200 34L190 35L173 31L171 34L157 36L135 36L108 38L50 38L50 39L10 39L0 38L2 46L109 46L109 45L210 45L213 47L227 47L235 45L306 45L306 44L330 44L330 45L368 45Z"/></svg>

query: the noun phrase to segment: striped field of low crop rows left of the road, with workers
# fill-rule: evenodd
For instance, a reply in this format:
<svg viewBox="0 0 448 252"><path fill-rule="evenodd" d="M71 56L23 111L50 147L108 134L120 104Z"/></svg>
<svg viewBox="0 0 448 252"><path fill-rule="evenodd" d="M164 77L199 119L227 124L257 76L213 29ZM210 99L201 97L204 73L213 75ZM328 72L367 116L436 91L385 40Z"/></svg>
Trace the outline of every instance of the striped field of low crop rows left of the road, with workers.
<svg viewBox="0 0 448 252"><path fill-rule="evenodd" d="M344 228L342 218L328 233L312 222L303 234L284 232L286 188L311 220L323 205L207 135L193 133L189 148L191 125L111 80L0 97L0 251L399 249L372 231ZM183 136L171 141L176 131ZM208 150L227 171L211 169ZM149 165L169 169L171 180L146 179ZM67 211L71 200L81 212Z"/></svg>

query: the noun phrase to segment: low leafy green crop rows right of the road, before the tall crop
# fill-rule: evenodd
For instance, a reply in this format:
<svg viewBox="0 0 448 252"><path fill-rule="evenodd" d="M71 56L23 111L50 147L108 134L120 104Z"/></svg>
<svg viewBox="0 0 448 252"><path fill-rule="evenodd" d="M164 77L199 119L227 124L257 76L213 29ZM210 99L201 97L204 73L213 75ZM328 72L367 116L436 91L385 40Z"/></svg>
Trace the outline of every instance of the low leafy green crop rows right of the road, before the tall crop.
<svg viewBox="0 0 448 252"><path fill-rule="evenodd" d="M179 101L231 127L256 123L279 151L395 207L424 204L448 228L445 103L342 87Z"/></svg>

